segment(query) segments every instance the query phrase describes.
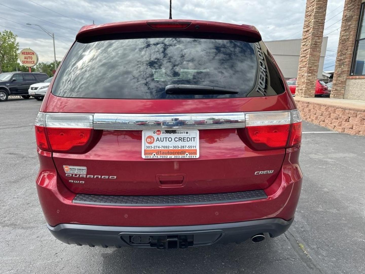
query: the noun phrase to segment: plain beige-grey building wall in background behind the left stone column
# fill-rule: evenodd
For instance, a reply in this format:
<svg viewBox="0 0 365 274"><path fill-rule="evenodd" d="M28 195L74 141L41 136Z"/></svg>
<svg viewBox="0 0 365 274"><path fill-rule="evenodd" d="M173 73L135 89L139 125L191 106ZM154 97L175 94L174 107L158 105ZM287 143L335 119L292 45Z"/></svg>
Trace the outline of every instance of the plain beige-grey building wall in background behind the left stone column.
<svg viewBox="0 0 365 274"><path fill-rule="evenodd" d="M323 37L317 78L322 78L327 40L328 37ZM265 44L274 56L284 77L296 78L298 74L301 39L267 41Z"/></svg>

